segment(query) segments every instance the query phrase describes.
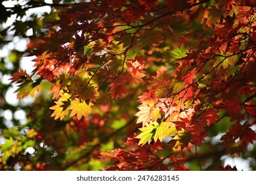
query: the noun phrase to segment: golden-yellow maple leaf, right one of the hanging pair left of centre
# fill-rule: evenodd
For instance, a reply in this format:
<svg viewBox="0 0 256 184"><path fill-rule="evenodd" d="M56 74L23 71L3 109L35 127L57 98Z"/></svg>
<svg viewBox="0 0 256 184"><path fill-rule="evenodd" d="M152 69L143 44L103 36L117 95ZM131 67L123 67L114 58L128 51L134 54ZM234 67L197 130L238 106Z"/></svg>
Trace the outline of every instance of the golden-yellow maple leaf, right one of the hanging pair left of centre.
<svg viewBox="0 0 256 184"><path fill-rule="evenodd" d="M86 103L86 101L80 101L80 99L76 98L70 103L70 116L76 114L78 120L80 120L82 116L88 117L88 114L92 112L91 106L93 106L93 103Z"/></svg>

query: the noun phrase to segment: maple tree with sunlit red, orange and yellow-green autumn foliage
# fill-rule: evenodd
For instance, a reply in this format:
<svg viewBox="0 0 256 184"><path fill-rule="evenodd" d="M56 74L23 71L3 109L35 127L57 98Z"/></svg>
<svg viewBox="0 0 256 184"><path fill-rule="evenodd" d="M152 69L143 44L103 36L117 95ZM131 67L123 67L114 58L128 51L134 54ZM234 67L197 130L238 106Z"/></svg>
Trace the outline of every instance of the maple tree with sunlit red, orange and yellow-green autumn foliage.
<svg viewBox="0 0 256 184"><path fill-rule="evenodd" d="M1 125L2 170L255 162L255 1L32 0L1 18L42 6L51 13L13 28L21 37L34 31L24 53L35 56L34 70L17 65L11 78L18 99L34 102L26 124Z"/></svg>

